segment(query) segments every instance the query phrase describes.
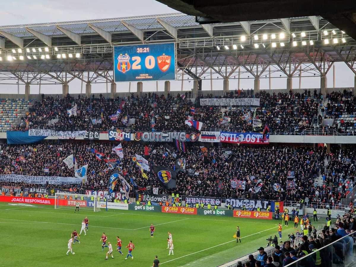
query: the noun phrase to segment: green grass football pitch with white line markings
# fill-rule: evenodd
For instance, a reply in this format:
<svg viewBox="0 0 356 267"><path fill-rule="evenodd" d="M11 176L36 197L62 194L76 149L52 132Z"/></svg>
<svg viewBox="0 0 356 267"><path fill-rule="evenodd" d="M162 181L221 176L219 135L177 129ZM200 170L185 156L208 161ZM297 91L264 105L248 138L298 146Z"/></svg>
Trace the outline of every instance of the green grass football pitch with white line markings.
<svg viewBox="0 0 356 267"><path fill-rule="evenodd" d="M66 255L73 230L80 231L88 216L89 230L80 235L80 244L72 246L75 255ZM321 220L323 223L324 220ZM156 226L154 238L149 227ZM266 246L266 239L277 234L276 220L150 213L132 210L93 212L54 209L43 205L0 205L1 266L152 266L155 255L162 266L217 266ZM242 242L232 237L240 226ZM174 256L168 256L167 232L172 233ZM104 260L108 248L101 251L100 237L105 232L114 249L114 259ZM294 232L292 222L283 227L283 239ZM116 251L116 236L122 240L121 256ZM278 236L278 234L277 234ZM126 245L132 240L131 258Z"/></svg>

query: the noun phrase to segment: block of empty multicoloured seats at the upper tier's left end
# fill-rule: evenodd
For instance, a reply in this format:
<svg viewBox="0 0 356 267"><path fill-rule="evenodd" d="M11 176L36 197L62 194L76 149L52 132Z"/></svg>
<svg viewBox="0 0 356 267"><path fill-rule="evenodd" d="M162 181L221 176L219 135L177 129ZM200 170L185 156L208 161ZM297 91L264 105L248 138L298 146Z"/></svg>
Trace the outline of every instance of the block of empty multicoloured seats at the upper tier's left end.
<svg viewBox="0 0 356 267"><path fill-rule="evenodd" d="M25 99L0 99L0 132L6 132L11 125L20 121L30 104L31 101Z"/></svg>

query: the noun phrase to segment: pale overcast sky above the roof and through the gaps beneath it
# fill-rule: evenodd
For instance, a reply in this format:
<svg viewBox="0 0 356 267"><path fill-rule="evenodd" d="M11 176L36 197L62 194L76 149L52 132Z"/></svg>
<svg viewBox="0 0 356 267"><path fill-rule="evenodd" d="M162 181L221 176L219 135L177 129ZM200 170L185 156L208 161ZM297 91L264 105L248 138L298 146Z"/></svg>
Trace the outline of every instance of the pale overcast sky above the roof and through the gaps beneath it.
<svg viewBox="0 0 356 267"><path fill-rule="evenodd" d="M0 25L18 25L44 22L63 22L75 20L106 19L115 17L129 17L142 15L156 15L177 12L155 0L130 0L130 1L93 1L93 0L3 0L0 9ZM336 63L336 87L353 87L354 75L344 63ZM281 73L282 76L283 73ZM247 75L246 75L247 76ZM275 76L279 75L275 73ZM187 75L185 75L185 78ZM245 77L247 78L247 77ZM286 88L286 78L272 79L272 88ZM182 82L171 82L171 90L180 90ZM192 82L184 81L184 90L193 87ZM261 89L268 89L268 79L261 79ZM328 87L333 87L333 72L328 73ZM0 93L17 92L17 85L0 85ZM81 88L85 91L85 84L82 85L79 80L73 80L69 84L70 93L80 93ZM223 80L213 81L213 90L221 90ZM230 89L237 88L237 79L230 80ZM242 79L240 88L253 88L253 79ZM299 78L293 78L293 88L299 88ZM320 78L302 78L301 88L320 88ZM110 84L108 87L110 91ZM129 83L118 83L117 91L128 91ZM20 86L20 93L24 92L24 87ZM31 94L38 93L38 86L31 85ZM41 87L44 93L61 93L60 85L43 85ZM105 84L92 84L92 92L105 91ZM131 83L131 90L136 91L136 83ZM156 90L156 82L144 82L144 91ZM158 83L158 90L164 90L164 82ZM210 90L210 81L203 80L203 90Z"/></svg>

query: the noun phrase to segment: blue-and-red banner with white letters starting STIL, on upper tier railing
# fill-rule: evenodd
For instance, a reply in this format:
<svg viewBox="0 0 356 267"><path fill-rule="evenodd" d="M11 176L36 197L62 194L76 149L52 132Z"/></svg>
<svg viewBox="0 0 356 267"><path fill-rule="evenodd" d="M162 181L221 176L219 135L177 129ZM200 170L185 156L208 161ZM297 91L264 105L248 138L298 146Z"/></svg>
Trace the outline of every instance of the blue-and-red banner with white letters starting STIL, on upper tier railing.
<svg viewBox="0 0 356 267"><path fill-rule="evenodd" d="M269 144L269 133L262 141L262 133L258 132L220 132L220 142L240 144Z"/></svg>

